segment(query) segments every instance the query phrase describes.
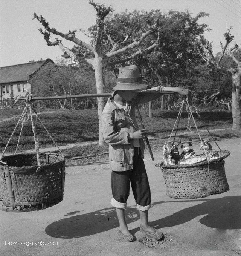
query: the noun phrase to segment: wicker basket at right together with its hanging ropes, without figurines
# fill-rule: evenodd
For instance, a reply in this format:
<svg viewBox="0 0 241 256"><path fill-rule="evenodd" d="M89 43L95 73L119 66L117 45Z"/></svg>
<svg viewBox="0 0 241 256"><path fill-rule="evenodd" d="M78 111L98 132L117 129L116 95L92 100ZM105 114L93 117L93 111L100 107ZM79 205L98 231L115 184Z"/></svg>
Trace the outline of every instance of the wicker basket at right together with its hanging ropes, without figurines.
<svg viewBox="0 0 241 256"><path fill-rule="evenodd" d="M186 102L185 102L186 101ZM174 127L172 129L171 135L169 136L169 141L174 133L175 135L172 142L172 147L175 143L175 138L177 135L178 126L180 123L180 118L182 115L184 104L186 103L186 110L188 112L188 125L190 126L190 120L194 121L194 126L197 130L201 144L203 140L201 138L200 132L198 130L197 124L195 122L191 106L188 103L188 100L183 100L180 110L177 115ZM227 183L225 168L224 168L224 158L230 155L230 151L221 150L218 146L216 140L211 135L203 120L201 119L200 113L197 108L194 106L195 112L197 113L198 118L203 123L204 127L208 131L209 135L212 137L213 141L217 145L218 149L218 158L209 158L207 150L203 147L203 156L204 159L198 162L191 164L181 164L182 161L178 161L178 164L165 165L163 161L164 157L164 146L163 146L163 156L161 162L156 164L156 167L159 167L162 170L163 178L166 184L167 195L171 198L176 199L191 199L191 198L203 198L209 195L223 193L229 190L229 185ZM191 126L190 126L191 128ZM198 157L193 156L192 159ZM191 158L187 158L191 159ZM184 161L183 161L184 162Z"/></svg>

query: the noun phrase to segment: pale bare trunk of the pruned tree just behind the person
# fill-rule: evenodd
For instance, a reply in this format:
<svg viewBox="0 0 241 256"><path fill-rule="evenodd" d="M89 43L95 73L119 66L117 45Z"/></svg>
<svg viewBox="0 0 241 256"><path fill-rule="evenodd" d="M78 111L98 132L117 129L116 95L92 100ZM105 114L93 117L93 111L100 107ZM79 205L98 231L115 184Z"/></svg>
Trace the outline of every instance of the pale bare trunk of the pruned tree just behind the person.
<svg viewBox="0 0 241 256"><path fill-rule="evenodd" d="M96 81L96 93L102 94L104 93L104 63L103 58L101 58L95 52L95 61L94 61L94 69L95 69L95 81ZM102 134L102 126L101 126L101 113L105 107L105 99L104 97L97 98L97 106L98 106L98 117L99 117L99 145L104 145L104 138Z"/></svg>

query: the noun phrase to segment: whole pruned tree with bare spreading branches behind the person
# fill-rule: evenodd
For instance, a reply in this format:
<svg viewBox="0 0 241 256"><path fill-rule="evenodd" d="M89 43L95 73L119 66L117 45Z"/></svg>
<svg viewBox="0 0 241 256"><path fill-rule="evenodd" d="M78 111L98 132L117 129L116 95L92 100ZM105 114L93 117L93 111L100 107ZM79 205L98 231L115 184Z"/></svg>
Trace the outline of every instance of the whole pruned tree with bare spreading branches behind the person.
<svg viewBox="0 0 241 256"><path fill-rule="evenodd" d="M124 63L128 60L133 59L139 54L146 52L157 46L157 42L159 40L159 31L158 28L162 25L160 20L162 15L156 15L155 19L149 19L146 17L146 29L140 30L138 33L132 30L128 30L128 34L123 35L122 41L114 40L111 35L108 33L108 26L105 24L105 20L108 14L112 12L110 6L105 6L104 4L94 3L93 0L90 1L90 4L96 10L96 32L93 34L92 41L90 44L85 43L76 37L74 31L69 31L66 34L63 32L59 32L55 28L50 28L49 23L43 18L42 15L38 16L36 13L33 14L34 18L36 18L41 25L44 27L39 29L41 34L43 34L44 39L48 46L59 46L59 48L65 53L69 54L70 57L73 58L74 61L81 63L82 61L88 60L88 57L92 57L90 63L92 63L93 68L95 70L95 80L96 80L96 92L101 94L104 92L104 77L105 77L105 68L108 65L111 65L110 58L114 58L117 55L121 55L124 52L130 51L130 55L128 55L124 60L117 60L116 63ZM109 26L110 28L110 26ZM50 35L57 35L66 40L72 41L74 44L80 47L80 51L78 57L74 54L71 49L65 47L59 38L55 38L55 41L50 40ZM154 40L150 41L148 44L142 45L142 42L149 35L154 34ZM105 49L102 46L102 39L108 40L111 46L110 49ZM128 44L127 44L128 41ZM80 57L79 57L80 56ZM99 119L101 118L102 110L104 109L104 98L98 98L98 115ZM99 122L99 144L103 144L104 139L101 132L101 122Z"/></svg>

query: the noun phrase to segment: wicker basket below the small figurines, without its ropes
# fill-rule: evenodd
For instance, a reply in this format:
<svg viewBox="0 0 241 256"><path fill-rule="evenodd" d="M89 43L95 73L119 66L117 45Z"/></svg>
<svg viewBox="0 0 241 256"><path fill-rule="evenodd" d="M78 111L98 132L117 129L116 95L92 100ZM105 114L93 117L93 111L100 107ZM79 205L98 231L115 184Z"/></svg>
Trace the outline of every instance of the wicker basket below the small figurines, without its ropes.
<svg viewBox="0 0 241 256"><path fill-rule="evenodd" d="M220 158L212 161L204 160L197 164L178 164L164 166L156 164L163 173L167 195L171 198L190 199L202 198L229 190L224 158L230 151L219 151Z"/></svg>

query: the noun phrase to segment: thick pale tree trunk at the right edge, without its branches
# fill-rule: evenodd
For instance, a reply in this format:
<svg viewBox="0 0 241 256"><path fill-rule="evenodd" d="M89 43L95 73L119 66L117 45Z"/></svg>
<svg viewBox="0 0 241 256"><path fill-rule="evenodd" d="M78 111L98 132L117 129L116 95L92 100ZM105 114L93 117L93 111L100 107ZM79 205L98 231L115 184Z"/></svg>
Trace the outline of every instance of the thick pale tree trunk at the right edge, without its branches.
<svg viewBox="0 0 241 256"><path fill-rule="evenodd" d="M240 78L239 70L232 74L232 116L233 130L241 131L241 116L240 116Z"/></svg>

